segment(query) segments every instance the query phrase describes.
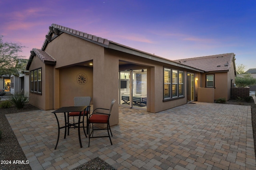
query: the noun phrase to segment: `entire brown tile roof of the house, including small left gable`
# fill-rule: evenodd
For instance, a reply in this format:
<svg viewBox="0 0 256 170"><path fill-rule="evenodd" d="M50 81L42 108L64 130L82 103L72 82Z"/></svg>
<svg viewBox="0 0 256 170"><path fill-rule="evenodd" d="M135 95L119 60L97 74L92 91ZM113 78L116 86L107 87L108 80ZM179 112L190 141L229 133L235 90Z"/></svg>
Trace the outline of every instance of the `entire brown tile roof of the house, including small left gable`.
<svg viewBox="0 0 256 170"><path fill-rule="evenodd" d="M125 45L115 43L113 41L110 41L108 39L104 39L101 37L97 37L95 35L91 35L88 33L84 33L82 31L77 31L75 29L71 29L68 27L64 27L57 24L52 24L49 27L48 34L46 35L46 39L44 40L44 43L42 45L41 50L40 49L33 49L33 51L44 61L46 64L55 64L56 60L52 58L49 54L47 54L44 50L46 49L46 46L50 41L58 37L58 35L62 33L68 33L70 35L73 35L75 37L79 37L81 39L84 39L86 41L90 41L92 43L96 43L98 45L101 45L106 48L111 48L115 50L119 50L125 53L130 53L133 55L137 55L140 57L144 57L147 59L151 59L154 61L159 61L163 63L172 64L175 66L180 66L183 68L188 68L192 70L196 70L199 72L204 71L211 71L211 70L229 70L231 66L231 62L234 57L234 53L224 54L224 55L213 55L213 56L206 56L206 57L197 57L192 59L182 59L182 60L176 60L171 61L168 59L164 59L162 57L158 57L143 51L139 51L137 49L133 49L131 47L127 47ZM30 55L29 62L27 64L27 70L29 69L29 66L32 62L33 56Z"/></svg>

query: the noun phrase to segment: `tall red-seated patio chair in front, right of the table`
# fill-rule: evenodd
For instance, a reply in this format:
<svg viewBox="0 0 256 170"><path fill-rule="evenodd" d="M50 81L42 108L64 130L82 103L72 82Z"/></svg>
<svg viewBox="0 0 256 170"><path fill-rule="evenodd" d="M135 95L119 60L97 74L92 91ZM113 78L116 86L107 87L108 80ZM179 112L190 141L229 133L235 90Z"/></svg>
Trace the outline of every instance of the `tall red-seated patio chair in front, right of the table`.
<svg viewBox="0 0 256 170"><path fill-rule="evenodd" d="M94 111L92 112L92 115L90 115L89 119L88 119L88 123L92 123L92 132L89 134L89 143L88 143L88 147L90 147L90 139L91 138L98 138L98 137L109 137L110 143L112 145L112 141L110 138L110 134L109 134L109 130L112 135L111 129L110 129L110 125L109 125L109 117L110 117L110 113L112 111L112 107L114 105L114 103L116 102L115 99L112 100L111 102L111 106L109 109L105 109L105 108L97 108L94 109ZM98 112L98 110L100 112ZM107 110L108 113L102 113L101 111ZM107 124L107 128L98 128L98 129L94 129L93 123L103 123L103 124ZM108 131L108 136L93 136L93 131L96 130L107 130Z"/></svg>

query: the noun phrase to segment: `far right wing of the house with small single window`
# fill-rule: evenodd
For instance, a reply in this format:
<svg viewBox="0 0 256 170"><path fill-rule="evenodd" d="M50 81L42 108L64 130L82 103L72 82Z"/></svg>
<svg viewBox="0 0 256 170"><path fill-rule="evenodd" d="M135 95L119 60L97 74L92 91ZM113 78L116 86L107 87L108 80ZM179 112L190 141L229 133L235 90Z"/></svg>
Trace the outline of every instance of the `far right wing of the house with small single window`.
<svg viewBox="0 0 256 170"><path fill-rule="evenodd" d="M231 88L234 87L236 76L235 60L234 53L227 53L175 61L204 70L204 73L200 74L199 88L197 89L198 101L213 102L218 98L230 99Z"/></svg>

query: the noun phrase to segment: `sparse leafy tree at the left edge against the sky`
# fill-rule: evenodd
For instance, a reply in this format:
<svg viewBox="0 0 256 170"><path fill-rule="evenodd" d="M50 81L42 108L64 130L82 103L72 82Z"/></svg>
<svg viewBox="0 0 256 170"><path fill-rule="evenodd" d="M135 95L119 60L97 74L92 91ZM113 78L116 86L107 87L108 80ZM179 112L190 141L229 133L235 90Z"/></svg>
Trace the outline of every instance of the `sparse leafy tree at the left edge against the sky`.
<svg viewBox="0 0 256 170"><path fill-rule="evenodd" d="M9 74L18 74L24 64L23 56L19 56L18 53L22 52L22 46L20 43L3 43L2 35L0 35L0 77Z"/></svg>

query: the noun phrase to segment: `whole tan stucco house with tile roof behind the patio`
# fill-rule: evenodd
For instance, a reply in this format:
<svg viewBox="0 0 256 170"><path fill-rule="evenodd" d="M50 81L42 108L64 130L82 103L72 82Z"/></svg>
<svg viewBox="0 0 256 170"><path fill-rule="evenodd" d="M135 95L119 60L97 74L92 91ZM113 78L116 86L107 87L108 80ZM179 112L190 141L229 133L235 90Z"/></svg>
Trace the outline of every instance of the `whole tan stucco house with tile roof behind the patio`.
<svg viewBox="0 0 256 170"><path fill-rule="evenodd" d="M74 106L75 96L91 96L94 107L109 107L114 98L120 106L156 113L193 102L206 77L206 90L216 88L219 92L219 88L225 88L222 92L227 94L222 97L228 98L228 79L234 79L229 74L235 74L234 54L223 57L230 57L228 63L221 63L228 64L223 67L230 70L211 72L52 24L42 48L32 49L26 66L30 72L30 103L46 110L57 109ZM221 56L216 56L215 60L219 59ZM118 105L114 105L110 118L110 125L116 124Z"/></svg>

